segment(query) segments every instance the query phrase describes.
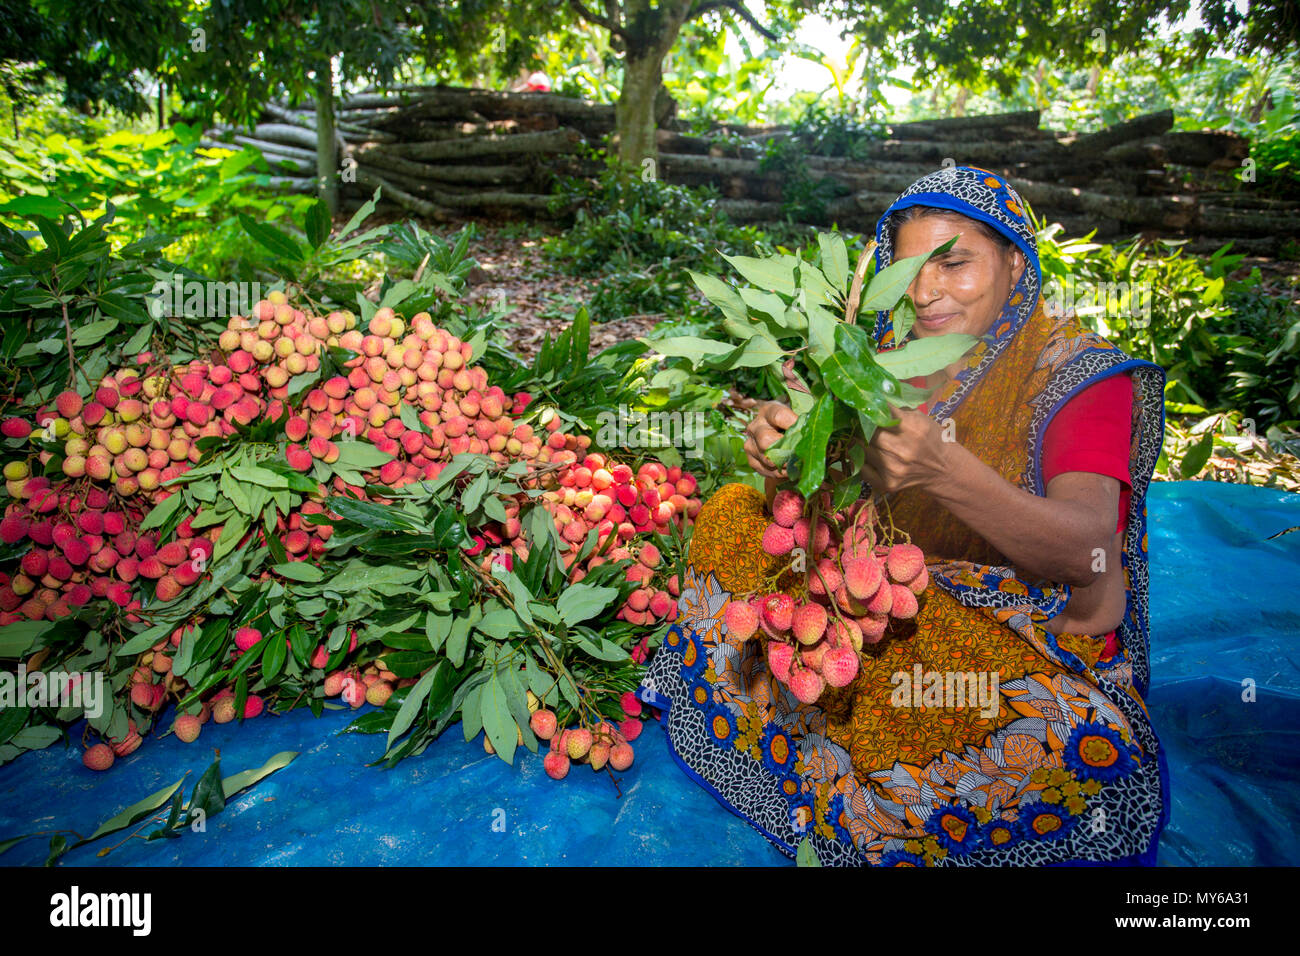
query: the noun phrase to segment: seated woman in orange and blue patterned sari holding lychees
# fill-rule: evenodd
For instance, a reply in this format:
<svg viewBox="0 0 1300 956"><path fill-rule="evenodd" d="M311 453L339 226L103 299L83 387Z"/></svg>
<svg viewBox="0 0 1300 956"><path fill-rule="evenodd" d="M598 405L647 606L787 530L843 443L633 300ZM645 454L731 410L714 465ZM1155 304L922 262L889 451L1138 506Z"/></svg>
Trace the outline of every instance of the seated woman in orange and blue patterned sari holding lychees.
<svg viewBox="0 0 1300 956"><path fill-rule="evenodd" d="M913 183L876 267L952 235L909 290L911 334L979 343L922 411L894 410L863 468L927 555L914 628L866 649L850 695L801 704L723 623L774 567L763 496L727 485L638 695L667 709L688 774L789 856L807 838L828 865L1153 864L1169 799L1143 702L1145 494L1165 375L1046 313L1020 199L987 170ZM889 313L875 333L896 345ZM770 479L763 451L794 420L768 403L749 428Z"/></svg>

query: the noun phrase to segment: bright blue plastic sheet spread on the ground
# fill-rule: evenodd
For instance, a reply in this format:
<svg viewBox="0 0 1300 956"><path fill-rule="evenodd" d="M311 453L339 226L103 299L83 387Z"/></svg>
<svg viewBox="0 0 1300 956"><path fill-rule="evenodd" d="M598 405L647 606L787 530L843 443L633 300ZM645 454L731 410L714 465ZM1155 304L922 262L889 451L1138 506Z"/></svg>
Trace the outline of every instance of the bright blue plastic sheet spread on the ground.
<svg viewBox="0 0 1300 956"><path fill-rule="evenodd" d="M1300 496L1217 483L1160 483L1150 518L1152 688L1170 756L1173 812L1161 865L1294 865L1300 849ZM1244 700L1252 697L1253 700ZM148 740L110 771L61 744L0 767L0 839L91 832L221 749L229 775L281 750L300 756L234 797L204 832L105 838L70 865L786 865L763 836L693 783L654 721L620 774L576 766L562 782L525 750L507 766L459 726L394 770L367 763L384 737L341 734L351 711L208 723L195 744ZM170 724L164 717L162 726ZM82 726L73 728L79 740ZM39 865L47 839L0 864Z"/></svg>

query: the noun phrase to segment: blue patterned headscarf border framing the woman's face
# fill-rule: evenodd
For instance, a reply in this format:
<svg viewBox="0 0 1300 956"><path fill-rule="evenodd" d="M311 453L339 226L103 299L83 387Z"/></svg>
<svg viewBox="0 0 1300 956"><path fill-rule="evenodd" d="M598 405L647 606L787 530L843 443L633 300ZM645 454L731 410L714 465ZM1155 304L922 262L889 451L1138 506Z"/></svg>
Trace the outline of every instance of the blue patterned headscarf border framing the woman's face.
<svg viewBox="0 0 1300 956"><path fill-rule="evenodd" d="M1028 268L1008 295L1002 313L985 338L993 351L1032 315L1043 289L1039 268L1039 243L1024 213L1019 194L996 173L979 166L949 166L923 176L904 190L893 206L876 222L876 273L893 261L894 230L889 217L909 206L931 206L952 209L962 216L987 222L1009 238L1024 254ZM888 311L876 312L876 342L881 349L901 345L893 341L893 320Z"/></svg>

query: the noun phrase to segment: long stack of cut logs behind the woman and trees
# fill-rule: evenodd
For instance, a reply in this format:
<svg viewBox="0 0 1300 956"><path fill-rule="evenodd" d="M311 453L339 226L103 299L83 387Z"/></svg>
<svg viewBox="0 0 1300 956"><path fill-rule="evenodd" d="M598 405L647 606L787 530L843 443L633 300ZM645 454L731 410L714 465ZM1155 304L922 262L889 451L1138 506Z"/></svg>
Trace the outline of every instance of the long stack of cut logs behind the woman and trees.
<svg viewBox="0 0 1300 956"><path fill-rule="evenodd" d="M399 87L341 100L335 146L342 196L358 206L376 186L387 203L452 221L472 215L554 216L560 176L590 176L614 130L614 107L536 92L443 86ZM1037 111L894 124L864 137L853 157L801 155L801 176L819 183L820 208L798 209L812 225L870 232L919 176L944 165L976 165L1008 177L1040 219L1067 234L1098 239L1190 238L1193 248L1275 254L1300 203L1253 196L1232 179L1249 155L1230 133L1174 131L1171 111L1106 129L1043 129ZM659 130L658 174L712 186L738 221L788 219L790 173L772 164L788 127L718 126L690 135L685 124ZM252 130L217 127L209 146L261 150L277 182L311 191L316 176L315 113L270 103Z"/></svg>

